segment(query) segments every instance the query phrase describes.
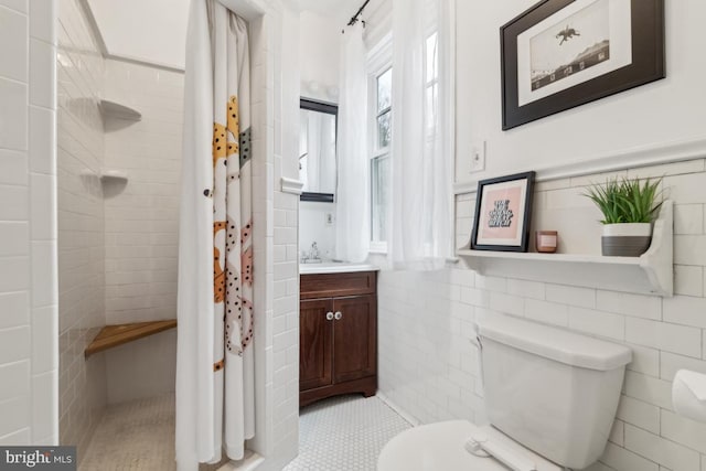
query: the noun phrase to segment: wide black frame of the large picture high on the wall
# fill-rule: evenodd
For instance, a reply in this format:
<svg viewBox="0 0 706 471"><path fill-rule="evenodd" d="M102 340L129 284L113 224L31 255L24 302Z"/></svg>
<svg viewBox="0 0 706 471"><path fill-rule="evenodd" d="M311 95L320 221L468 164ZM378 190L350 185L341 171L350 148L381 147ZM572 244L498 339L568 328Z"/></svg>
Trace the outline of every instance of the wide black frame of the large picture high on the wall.
<svg viewBox="0 0 706 471"><path fill-rule="evenodd" d="M664 54L664 0L631 0L631 53L629 65L590 78L553 95L524 105L518 100L518 51L517 36L533 25L560 12L576 0L543 0L514 18L500 29L502 68L502 128L517 126L560 113L587 103L624 92L665 77ZM598 0L597 0L598 1ZM566 25L568 32L569 25ZM565 31L557 34L557 39ZM560 41L558 39L557 41ZM576 60L575 60L576 61ZM582 62L582 61L581 61ZM557 74L584 71L575 62L556 68ZM535 83L533 81L532 88ZM534 89L533 89L534 92Z"/></svg>

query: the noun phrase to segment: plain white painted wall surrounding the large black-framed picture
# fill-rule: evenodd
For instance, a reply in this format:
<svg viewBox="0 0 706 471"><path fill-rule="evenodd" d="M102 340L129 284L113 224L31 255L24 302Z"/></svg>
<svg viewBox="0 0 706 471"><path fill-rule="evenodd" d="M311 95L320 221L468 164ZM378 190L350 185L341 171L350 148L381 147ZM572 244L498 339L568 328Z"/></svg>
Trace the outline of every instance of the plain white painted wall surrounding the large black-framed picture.
<svg viewBox="0 0 706 471"><path fill-rule="evenodd" d="M500 32L534 0L457 2L457 181L587 161L635 147L700 138L706 121L703 41L706 3L666 1L666 78L501 130ZM488 141L484 173L469 174L470 147Z"/></svg>

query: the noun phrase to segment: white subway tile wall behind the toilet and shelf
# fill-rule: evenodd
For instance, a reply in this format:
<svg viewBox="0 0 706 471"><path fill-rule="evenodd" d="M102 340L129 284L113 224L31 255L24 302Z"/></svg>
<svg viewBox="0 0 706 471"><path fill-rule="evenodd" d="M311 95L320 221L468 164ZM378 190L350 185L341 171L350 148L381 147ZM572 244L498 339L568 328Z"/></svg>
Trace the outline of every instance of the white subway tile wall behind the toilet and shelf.
<svg viewBox="0 0 706 471"><path fill-rule="evenodd" d="M706 373L704 164L704 159L695 159L627 172L665 175L664 189L675 203L673 298L484 277L464 269L462 261L437 272L382 271L381 392L420 422L484 421L477 352L470 343L472 321L496 312L526 317L624 343L633 351L610 441L591 471L706 471L706 425L676 415L671 394L677 370ZM581 189L575 186L602 180L605 175L542 182L537 220L575 237L560 225L561 218L574 224L592 214L586 212L586 199L576 197ZM458 247L468 247L474 204L473 194L457 197ZM598 220L587 217L591 224ZM571 249L599 247L565 242Z"/></svg>

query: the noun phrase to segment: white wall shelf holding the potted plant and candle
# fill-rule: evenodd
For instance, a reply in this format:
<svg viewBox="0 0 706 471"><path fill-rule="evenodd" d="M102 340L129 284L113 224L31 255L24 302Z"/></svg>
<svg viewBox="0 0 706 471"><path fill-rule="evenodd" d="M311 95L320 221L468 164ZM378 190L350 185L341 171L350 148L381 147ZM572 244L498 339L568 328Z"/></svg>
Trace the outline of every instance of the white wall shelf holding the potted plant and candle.
<svg viewBox="0 0 706 471"><path fill-rule="evenodd" d="M652 244L640 257L458 249L481 275L575 285L614 291L673 296L673 203L654 222Z"/></svg>

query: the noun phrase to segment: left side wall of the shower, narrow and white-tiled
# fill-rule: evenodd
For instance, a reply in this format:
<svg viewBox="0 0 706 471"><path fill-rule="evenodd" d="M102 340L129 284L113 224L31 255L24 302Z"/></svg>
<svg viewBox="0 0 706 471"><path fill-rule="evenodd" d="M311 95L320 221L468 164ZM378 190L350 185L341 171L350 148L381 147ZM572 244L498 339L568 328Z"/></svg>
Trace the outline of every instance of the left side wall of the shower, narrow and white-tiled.
<svg viewBox="0 0 706 471"><path fill-rule="evenodd" d="M97 107L103 95L104 60L78 1L61 2L56 30L61 352L57 415L61 443L77 446L81 459L106 404L105 358L84 358L85 346L105 325L104 208L98 180L104 138Z"/></svg>

